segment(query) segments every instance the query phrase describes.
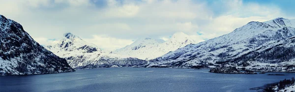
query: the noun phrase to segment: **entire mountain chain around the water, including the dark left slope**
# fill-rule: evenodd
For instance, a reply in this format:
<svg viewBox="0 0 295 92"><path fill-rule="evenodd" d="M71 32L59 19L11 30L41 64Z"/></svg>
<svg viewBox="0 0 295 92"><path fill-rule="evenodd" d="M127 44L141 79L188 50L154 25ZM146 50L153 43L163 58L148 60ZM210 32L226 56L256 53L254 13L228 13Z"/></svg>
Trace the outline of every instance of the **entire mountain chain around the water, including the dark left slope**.
<svg viewBox="0 0 295 92"><path fill-rule="evenodd" d="M239 70L295 71L295 20L284 18L249 22L200 43L183 32L167 41L141 38L113 52L101 50L72 33L65 33L45 49L20 24L2 15L0 34L0 75L72 72L73 68L220 65Z"/></svg>

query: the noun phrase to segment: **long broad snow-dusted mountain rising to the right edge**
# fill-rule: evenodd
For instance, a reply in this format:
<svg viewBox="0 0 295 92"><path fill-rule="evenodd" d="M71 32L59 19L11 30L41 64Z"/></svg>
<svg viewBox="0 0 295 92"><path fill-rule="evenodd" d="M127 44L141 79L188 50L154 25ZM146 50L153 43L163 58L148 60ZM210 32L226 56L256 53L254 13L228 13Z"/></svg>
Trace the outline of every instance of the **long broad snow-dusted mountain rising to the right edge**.
<svg viewBox="0 0 295 92"><path fill-rule="evenodd" d="M276 18L266 22L252 21L231 33L169 52L151 60L146 67L209 67L227 64L295 69L294 47L295 20Z"/></svg>

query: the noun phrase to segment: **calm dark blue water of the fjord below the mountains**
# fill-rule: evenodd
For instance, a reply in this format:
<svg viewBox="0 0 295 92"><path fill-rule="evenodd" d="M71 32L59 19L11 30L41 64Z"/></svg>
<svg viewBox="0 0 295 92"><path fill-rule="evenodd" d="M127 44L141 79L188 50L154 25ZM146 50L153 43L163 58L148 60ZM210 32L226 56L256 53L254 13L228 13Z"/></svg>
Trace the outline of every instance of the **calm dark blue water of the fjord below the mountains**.
<svg viewBox="0 0 295 92"><path fill-rule="evenodd" d="M0 92L255 92L250 88L295 77L220 74L208 69L98 68L70 73L2 76Z"/></svg>

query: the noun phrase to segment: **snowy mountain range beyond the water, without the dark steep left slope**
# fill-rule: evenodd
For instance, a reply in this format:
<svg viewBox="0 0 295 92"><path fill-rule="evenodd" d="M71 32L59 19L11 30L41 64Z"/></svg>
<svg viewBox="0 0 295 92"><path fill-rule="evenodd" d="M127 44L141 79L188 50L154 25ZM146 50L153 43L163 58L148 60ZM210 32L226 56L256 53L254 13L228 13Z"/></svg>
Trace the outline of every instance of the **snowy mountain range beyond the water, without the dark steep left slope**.
<svg viewBox="0 0 295 92"><path fill-rule="evenodd" d="M261 67L270 66L278 68L278 71L288 71L288 69L293 70L295 64L293 55L295 26L293 25L295 25L294 20L284 18L249 22L229 34L200 43L183 32L177 32L167 41L141 38L113 53L103 52L80 37L66 33L58 44L46 47L65 58L74 68L112 66L207 68L226 64L250 70L258 69L256 71L269 71L270 68ZM101 62L101 59L121 64L114 64L112 61ZM125 64L129 61L134 63Z"/></svg>

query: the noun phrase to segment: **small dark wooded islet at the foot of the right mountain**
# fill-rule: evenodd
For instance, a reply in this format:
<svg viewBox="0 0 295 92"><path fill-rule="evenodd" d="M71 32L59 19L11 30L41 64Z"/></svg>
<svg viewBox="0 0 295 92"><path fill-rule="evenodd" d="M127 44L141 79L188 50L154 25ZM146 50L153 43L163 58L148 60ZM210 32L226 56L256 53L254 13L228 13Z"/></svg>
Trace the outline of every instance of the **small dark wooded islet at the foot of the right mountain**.
<svg viewBox="0 0 295 92"><path fill-rule="evenodd" d="M209 72L212 73L229 73L229 74L257 74L256 72L253 71L244 71L241 72L236 69L236 67L233 66L220 66L220 67L215 67L210 69Z"/></svg>

